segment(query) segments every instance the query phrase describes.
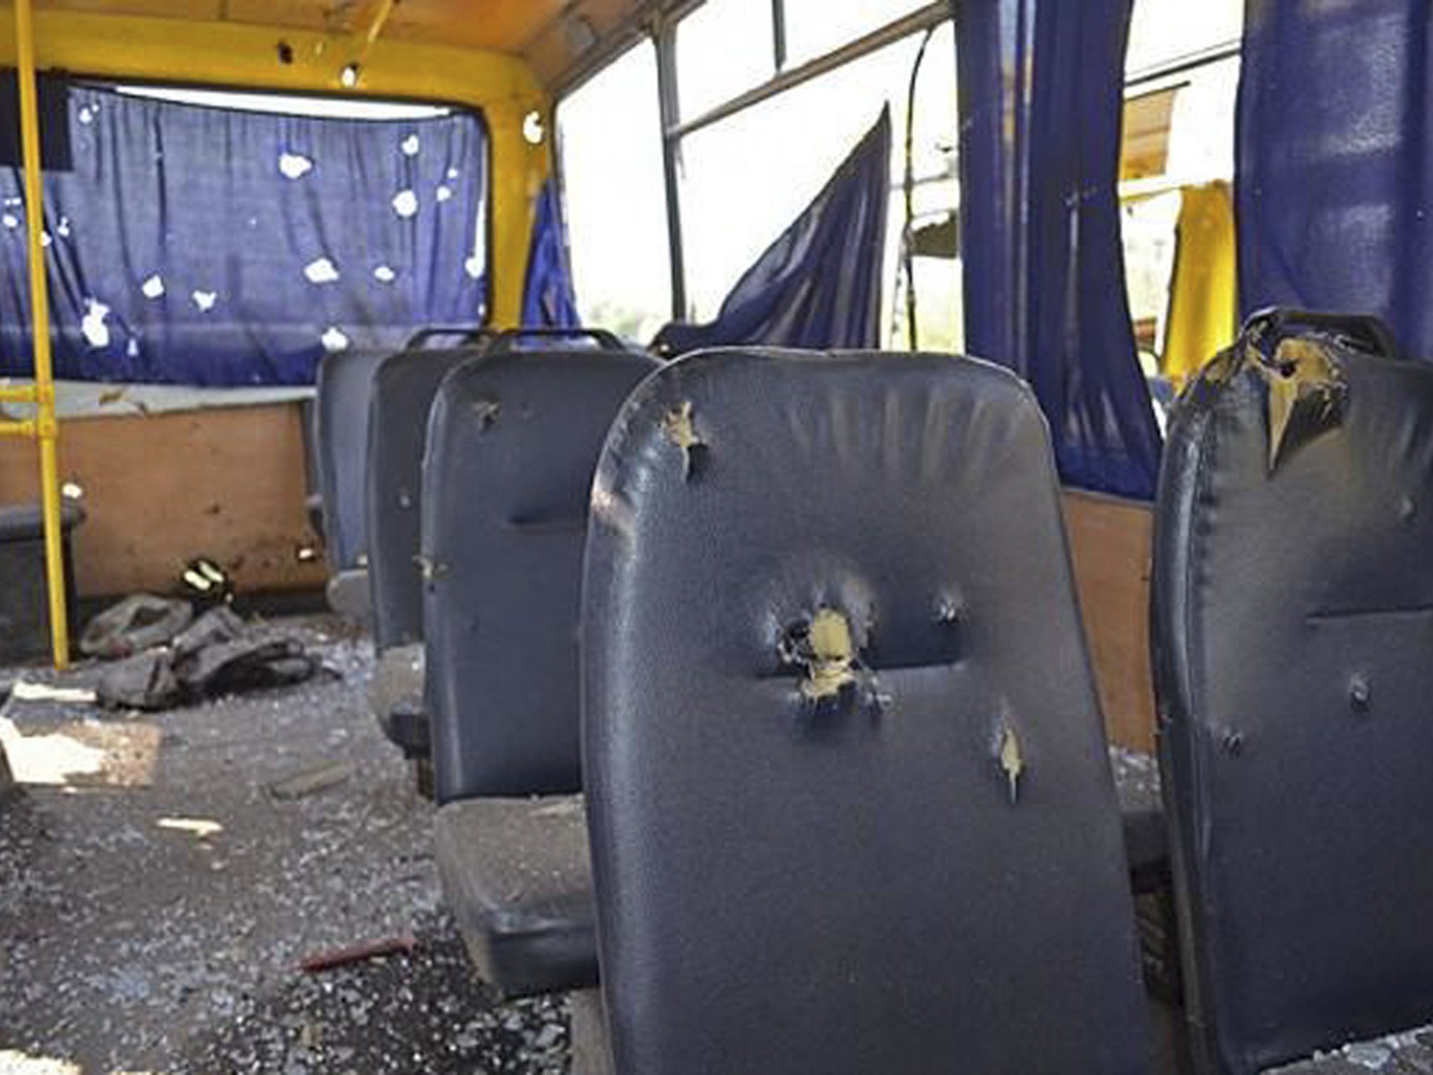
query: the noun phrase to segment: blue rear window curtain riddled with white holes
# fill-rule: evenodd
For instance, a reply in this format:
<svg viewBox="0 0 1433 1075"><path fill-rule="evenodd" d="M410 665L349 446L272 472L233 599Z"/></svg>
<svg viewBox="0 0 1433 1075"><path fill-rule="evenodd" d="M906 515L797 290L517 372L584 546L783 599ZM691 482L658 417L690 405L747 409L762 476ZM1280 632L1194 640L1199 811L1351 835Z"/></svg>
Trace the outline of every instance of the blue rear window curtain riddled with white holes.
<svg viewBox="0 0 1433 1075"><path fill-rule="evenodd" d="M59 377L308 384L487 298L471 115L279 116L75 86L44 175ZM0 168L0 373L32 373L24 198Z"/></svg>

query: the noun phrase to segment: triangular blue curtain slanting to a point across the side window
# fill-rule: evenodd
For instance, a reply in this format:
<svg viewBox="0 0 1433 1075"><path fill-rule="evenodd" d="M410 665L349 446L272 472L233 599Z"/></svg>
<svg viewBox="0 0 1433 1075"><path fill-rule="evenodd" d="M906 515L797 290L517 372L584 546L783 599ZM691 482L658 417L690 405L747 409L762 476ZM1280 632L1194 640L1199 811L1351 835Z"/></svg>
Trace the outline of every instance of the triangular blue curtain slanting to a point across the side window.
<svg viewBox="0 0 1433 1075"><path fill-rule="evenodd" d="M890 176L886 109L815 201L742 274L716 320L669 324L652 345L672 354L734 344L878 347Z"/></svg>

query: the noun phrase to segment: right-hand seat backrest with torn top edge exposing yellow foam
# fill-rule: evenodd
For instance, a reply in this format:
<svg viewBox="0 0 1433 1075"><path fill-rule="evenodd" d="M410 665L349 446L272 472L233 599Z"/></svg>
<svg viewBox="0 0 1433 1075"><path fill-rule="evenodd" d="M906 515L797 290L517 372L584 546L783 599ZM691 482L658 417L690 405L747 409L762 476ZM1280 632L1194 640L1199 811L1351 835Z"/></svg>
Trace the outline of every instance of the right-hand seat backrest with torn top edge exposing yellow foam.
<svg viewBox="0 0 1433 1075"><path fill-rule="evenodd" d="M1230 1075L1433 1015L1433 368L1311 345L1331 403L1277 453L1283 373L1191 383L1155 516L1185 968Z"/></svg>

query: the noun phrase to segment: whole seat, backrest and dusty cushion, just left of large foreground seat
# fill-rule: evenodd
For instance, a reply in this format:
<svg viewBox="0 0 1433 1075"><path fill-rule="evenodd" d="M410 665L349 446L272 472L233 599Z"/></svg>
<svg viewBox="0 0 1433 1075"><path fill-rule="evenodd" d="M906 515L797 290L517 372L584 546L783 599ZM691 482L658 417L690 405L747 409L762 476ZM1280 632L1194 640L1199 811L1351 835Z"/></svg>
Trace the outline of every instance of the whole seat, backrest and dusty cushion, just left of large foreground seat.
<svg viewBox="0 0 1433 1075"><path fill-rule="evenodd" d="M596 982L576 794L582 555L608 427L658 366L615 341L527 343L444 378L423 476L437 860L479 970L510 996Z"/></svg>

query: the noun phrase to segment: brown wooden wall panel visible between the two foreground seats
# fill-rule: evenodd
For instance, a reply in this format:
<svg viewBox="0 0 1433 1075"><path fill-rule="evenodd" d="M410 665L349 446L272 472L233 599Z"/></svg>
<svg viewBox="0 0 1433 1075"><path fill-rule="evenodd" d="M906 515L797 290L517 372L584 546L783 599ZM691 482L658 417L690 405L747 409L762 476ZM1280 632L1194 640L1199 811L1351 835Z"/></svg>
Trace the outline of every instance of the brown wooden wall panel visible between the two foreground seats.
<svg viewBox="0 0 1433 1075"><path fill-rule="evenodd" d="M1155 698L1149 674L1149 505L1065 493L1075 560L1105 727L1112 742L1154 750Z"/></svg>

